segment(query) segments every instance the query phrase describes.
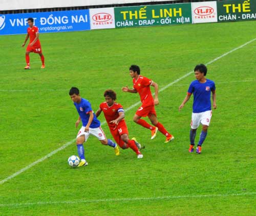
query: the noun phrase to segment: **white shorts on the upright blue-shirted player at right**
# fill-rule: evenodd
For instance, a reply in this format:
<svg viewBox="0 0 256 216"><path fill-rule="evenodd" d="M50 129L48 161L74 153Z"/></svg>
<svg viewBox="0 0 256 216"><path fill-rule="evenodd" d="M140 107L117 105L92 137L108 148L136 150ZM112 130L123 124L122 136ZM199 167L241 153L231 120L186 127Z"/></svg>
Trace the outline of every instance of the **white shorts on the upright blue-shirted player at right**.
<svg viewBox="0 0 256 216"><path fill-rule="evenodd" d="M205 112L199 112L199 113L192 113L191 117L191 129L197 129L200 125L210 125L210 119L211 119L211 110L205 111Z"/></svg>

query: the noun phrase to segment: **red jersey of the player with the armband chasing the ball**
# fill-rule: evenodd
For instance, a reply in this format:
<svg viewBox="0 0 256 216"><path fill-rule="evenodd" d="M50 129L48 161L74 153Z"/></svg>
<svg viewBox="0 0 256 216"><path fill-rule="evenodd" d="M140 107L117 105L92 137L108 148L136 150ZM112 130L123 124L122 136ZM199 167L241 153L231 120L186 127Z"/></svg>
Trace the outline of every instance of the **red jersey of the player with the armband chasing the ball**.
<svg viewBox="0 0 256 216"><path fill-rule="evenodd" d="M103 111L106 122L108 123L110 129L116 128L116 124L110 123L111 121L115 120L119 117L120 111L123 112L123 107L121 104L114 103L112 106L109 107L109 105L106 102L103 102L99 105L99 108ZM124 119L122 119L119 124L125 123Z"/></svg>

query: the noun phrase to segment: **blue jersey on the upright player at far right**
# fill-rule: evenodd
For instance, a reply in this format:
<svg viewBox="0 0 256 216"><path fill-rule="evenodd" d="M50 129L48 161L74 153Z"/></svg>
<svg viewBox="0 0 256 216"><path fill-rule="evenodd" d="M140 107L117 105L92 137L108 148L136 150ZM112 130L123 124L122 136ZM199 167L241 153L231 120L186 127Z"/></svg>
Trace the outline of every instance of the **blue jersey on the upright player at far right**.
<svg viewBox="0 0 256 216"><path fill-rule="evenodd" d="M200 83L198 80L191 82L188 93L194 95L193 112L199 113L211 110L210 92L215 91L215 83L212 80L206 79L205 83Z"/></svg>

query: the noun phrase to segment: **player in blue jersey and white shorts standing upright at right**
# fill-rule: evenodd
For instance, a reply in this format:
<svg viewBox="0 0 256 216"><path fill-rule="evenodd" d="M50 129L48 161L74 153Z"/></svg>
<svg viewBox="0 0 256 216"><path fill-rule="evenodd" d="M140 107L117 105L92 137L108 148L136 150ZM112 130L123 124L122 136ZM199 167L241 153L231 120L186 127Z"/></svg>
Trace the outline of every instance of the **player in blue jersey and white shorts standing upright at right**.
<svg viewBox="0 0 256 216"><path fill-rule="evenodd" d="M195 137L197 133L197 128L200 123L202 124L202 132L200 134L200 139L197 145L197 153L201 153L202 144L207 135L207 129L210 124L211 119L211 101L210 94L212 93L212 106L214 109L217 108L216 105L216 93L215 93L215 83L214 81L205 78L207 73L207 68L204 64L199 64L195 67L195 77L197 80L191 82L187 95L184 101L181 103L179 110L181 110L185 103L190 99L191 94L194 95L193 102L193 113L191 118L191 129L190 129L190 146L189 152L194 151Z"/></svg>

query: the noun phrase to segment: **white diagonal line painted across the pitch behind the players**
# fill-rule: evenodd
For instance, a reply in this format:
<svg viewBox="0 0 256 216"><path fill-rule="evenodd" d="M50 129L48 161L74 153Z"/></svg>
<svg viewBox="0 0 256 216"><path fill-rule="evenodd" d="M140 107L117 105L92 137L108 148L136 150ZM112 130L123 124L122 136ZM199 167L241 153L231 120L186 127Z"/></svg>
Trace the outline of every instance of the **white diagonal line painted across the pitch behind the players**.
<svg viewBox="0 0 256 216"><path fill-rule="evenodd" d="M241 45L241 46L238 46L237 48L234 48L233 50L231 50L231 51L229 51L229 52L227 52L227 53L224 53L224 54L221 55L220 57L217 57L217 58L215 58L214 60L211 60L211 61L207 62L205 65L211 64L211 63L213 63L213 62L215 62L215 61L221 59L222 57L224 57L224 56L226 56L226 55L228 55L228 54L230 54L230 53L232 53L232 52L234 52L234 51L236 51L236 50L238 50L238 49L244 47L245 45L247 45L247 44L253 42L254 40L256 40L256 38L254 38L254 39L252 39L252 40L250 40L250 41L244 43L244 44ZM171 85L173 85L173 84L179 82L180 80L186 78L187 76L189 76L189 75L192 74L192 73L194 73L194 70L193 70L193 71L190 71L189 73L185 74L184 76L178 78L177 80L175 80L175 81L169 83L168 85L164 86L163 88L160 88L160 89L159 89L159 92L165 90L165 89L168 88L169 86L171 86ZM130 106L130 107L128 107L127 109L125 109L125 111L131 110L132 108L134 108L135 106L139 105L140 103L141 103L141 102L138 101L137 103L135 103L135 104L133 104L132 106ZM103 125L103 124L105 124L105 122L103 122L101 125ZM61 151L62 149L65 149L66 147L68 147L69 145L71 145L71 143L73 143L74 140L75 140L75 139L73 139L73 140L67 142L67 143L64 144L62 147L60 147L60 148L58 148L58 149L52 151L52 152L49 153L48 155L46 155L46 156L40 158L39 160L37 160L37 161L35 161L35 162L29 164L28 166L24 167L23 169L19 170L19 171L16 172L16 173L12 174L11 176L7 177L6 179L1 180L1 181L0 181L0 185L3 184L3 183L5 183L5 182L7 182L8 180L14 178L15 176L19 175L20 173L23 173L24 171L28 170L28 169L31 168L32 166L36 165L37 163L42 162L42 161L44 161L45 159L47 159L47 158L53 156L54 154L56 154L57 152Z"/></svg>

